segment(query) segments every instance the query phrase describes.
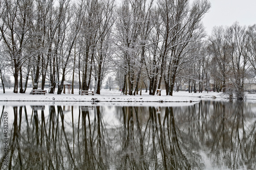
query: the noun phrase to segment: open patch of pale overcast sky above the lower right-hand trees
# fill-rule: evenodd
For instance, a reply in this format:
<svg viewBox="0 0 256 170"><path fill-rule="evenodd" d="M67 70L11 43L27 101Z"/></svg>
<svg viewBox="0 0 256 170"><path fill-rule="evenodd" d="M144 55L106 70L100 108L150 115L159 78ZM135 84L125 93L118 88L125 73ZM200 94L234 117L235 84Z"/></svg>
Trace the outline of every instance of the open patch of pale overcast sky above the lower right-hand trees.
<svg viewBox="0 0 256 170"><path fill-rule="evenodd" d="M203 18L204 27L211 34L214 26L241 26L256 24L256 0L209 0L211 8Z"/></svg>

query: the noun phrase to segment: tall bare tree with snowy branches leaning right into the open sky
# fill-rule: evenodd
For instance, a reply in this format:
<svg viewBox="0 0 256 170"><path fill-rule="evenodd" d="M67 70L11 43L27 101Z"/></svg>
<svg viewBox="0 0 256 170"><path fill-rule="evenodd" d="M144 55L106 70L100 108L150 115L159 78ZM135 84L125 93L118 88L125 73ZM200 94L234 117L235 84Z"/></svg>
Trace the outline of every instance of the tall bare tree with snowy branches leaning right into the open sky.
<svg viewBox="0 0 256 170"><path fill-rule="evenodd" d="M189 7L188 1L178 1L173 3L170 9L172 8L175 12L165 19L166 23L169 24L166 25L166 28L168 28L166 30L169 31L168 36L165 36L166 44L163 52L161 52L163 55L162 76L158 84L158 88L160 88L161 78L163 77L167 95L173 95L175 79L180 70L184 68L183 65L197 60L195 56L189 56L188 54L195 51L195 49L198 49L197 51L200 53L200 46L198 45L200 45L199 42L204 36L201 19L209 10L210 4L208 1L196 1Z"/></svg>

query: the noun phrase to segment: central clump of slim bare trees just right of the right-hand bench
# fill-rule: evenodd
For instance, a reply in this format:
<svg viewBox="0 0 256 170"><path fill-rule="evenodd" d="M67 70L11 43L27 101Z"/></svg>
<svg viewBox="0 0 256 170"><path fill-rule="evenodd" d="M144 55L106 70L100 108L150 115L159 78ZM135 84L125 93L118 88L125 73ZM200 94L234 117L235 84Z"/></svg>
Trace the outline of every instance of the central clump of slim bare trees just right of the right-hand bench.
<svg viewBox="0 0 256 170"><path fill-rule="evenodd" d="M152 28L152 6L153 1L124 1L117 12L116 43L120 50L118 63L121 63L119 67L124 72L123 92L129 88L129 95L135 95L139 86Z"/></svg>

